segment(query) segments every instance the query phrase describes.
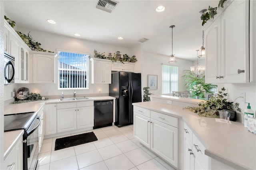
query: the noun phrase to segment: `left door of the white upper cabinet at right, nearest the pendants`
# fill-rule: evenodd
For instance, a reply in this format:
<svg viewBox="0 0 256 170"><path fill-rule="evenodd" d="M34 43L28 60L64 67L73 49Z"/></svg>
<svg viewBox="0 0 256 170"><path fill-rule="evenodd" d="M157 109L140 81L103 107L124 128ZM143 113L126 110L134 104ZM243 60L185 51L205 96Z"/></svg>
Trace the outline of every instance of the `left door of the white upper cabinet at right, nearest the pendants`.
<svg viewBox="0 0 256 170"><path fill-rule="evenodd" d="M205 30L205 82L220 83L221 79L216 76L221 75L221 46L220 46L220 19L216 18L207 30Z"/></svg>

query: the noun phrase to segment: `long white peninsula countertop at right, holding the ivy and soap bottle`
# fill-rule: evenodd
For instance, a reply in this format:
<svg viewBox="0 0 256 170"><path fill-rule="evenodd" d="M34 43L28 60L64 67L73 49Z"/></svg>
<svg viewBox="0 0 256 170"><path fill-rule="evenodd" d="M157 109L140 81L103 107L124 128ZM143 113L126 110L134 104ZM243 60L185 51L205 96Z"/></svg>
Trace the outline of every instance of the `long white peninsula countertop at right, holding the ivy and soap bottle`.
<svg viewBox="0 0 256 170"><path fill-rule="evenodd" d="M133 103L182 119L206 147L205 154L236 169L256 170L256 135L238 122L218 123L182 107L154 101Z"/></svg>

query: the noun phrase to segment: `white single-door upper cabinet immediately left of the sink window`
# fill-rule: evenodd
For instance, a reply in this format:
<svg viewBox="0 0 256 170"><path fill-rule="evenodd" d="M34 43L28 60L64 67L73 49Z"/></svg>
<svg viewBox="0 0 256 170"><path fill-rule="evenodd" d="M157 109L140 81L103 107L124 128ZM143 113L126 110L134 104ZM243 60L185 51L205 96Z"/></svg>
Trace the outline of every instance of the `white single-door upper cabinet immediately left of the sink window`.
<svg viewBox="0 0 256 170"><path fill-rule="evenodd" d="M55 83L56 53L33 53L33 83Z"/></svg>

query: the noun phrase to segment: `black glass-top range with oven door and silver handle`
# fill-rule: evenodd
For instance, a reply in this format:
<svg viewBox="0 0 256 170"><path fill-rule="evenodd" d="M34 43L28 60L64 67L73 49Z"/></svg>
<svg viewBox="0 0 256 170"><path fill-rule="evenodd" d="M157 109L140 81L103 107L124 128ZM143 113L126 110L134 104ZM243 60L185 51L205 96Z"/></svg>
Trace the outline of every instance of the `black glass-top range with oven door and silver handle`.
<svg viewBox="0 0 256 170"><path fill-rule="evenodd" d="M36 170L39 167L38 127L41 123L37 112L4 115L4 132L24 129L23 170Z"/></svg>

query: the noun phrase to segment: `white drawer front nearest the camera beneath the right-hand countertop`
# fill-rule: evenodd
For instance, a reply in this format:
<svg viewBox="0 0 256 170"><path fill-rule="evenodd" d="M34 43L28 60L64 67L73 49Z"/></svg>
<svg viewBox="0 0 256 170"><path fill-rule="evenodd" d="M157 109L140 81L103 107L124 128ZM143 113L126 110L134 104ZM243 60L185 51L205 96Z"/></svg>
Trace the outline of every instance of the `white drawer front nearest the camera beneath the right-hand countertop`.
<svg viewBox="0 0 256 170"><path fill-rule="evenodd" d="M192 137L192 144L194 148L194 154L198 155L198 158L204 163L204 167L208 166L208 156L204 154L205 147L204 145L198 140L198 138L193 134Z"/></svg>

